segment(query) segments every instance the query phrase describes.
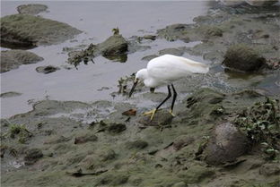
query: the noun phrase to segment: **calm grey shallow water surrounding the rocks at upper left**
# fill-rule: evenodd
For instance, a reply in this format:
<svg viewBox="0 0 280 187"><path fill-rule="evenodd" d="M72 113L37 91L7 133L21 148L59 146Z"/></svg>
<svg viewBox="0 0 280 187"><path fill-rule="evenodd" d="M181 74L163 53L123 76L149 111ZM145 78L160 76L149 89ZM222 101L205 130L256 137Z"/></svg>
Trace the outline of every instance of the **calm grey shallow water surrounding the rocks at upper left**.
<svg viewBox="0 0 280 187"><path fill-rule="evenodd" d="M38 64L22 65L19 69L1 74L1 93L16 91L22 96L1 98L1 117L9 117L31 110L34 102L49 98L57 100L79 100L93 102L96 100L123 100L125 97L112 98L110 93L118 90L118 79L130 75L143 68L147 62L141 61L145 55L156 54L168 47L183 47L181 41L167 42L156 40L144 45L152 48L128 55L127 63L111 62L106 58L94 59L95 64L81 64L76 70L66 64L67 54L62 53L63 47L100 43L112 34L111 30L118 27L120 33L129 38L133 35L143 36L154 34L156 30L173 23L190 23L198 15L205 14L209 2L2 2L1 16L17 13L20 4L39 3L48 5L48 13L40 15L56 21L66 22L83 34L77 36L77 42L66 41L59 45L37 47L31 52L42 56L45 60ZM195 44L187 44L192 46ZM4 48L1 48L4 50ZM201 57L192 59L203 61ZM207 62L206 62L207 63ZM41 65L71 67L67 70L49 74L36 72ZM106 87L109 89L101 89Z"/></svg>

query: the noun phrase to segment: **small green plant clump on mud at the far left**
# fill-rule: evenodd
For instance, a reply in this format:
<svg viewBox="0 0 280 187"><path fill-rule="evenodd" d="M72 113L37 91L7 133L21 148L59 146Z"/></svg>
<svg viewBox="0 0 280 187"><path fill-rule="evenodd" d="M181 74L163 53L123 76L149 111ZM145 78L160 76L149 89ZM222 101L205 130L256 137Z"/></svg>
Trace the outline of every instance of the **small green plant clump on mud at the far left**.
<svg viewBox="0 0 280 187"><path fill-rule="evenodd" d="M9 132L10 137L13 139L18 137L20 143L25 143L32 136L32 133L26 129L24 124L11 124Z"/></svg>

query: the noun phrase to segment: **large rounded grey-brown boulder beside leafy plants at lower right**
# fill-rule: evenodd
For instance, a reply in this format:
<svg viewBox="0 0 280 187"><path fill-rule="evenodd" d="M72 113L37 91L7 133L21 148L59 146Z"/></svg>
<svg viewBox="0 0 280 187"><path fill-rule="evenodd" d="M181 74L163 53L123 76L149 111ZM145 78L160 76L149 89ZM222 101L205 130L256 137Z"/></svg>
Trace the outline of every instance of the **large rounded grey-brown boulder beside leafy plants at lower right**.
<svg viewBox="0 0 280 187"><path fill-rule="evenodd" d="M232 123L221 123L216 126L206 145L206 163L221 165L233 162L249 149L249 140Z"/></svg>

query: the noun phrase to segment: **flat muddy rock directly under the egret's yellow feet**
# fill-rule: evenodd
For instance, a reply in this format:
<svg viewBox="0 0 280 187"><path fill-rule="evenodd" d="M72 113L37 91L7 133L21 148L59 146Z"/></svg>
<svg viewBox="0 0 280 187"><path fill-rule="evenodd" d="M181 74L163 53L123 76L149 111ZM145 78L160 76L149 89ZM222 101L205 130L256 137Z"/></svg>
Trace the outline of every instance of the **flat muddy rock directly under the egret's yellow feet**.
<svg viewBox="0 0 280 187"><path fill-rule="evenodd" d="M142 115L138 120L139 123L144 124L146 126L158 126L163 127L171 124L173 119L173 115L171 115L167 110L159 110L157 111L154 116L153 120L151 121L150 115Z"/></svg>

